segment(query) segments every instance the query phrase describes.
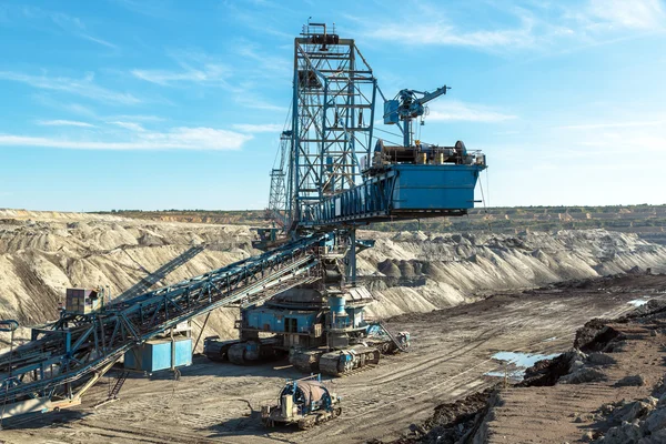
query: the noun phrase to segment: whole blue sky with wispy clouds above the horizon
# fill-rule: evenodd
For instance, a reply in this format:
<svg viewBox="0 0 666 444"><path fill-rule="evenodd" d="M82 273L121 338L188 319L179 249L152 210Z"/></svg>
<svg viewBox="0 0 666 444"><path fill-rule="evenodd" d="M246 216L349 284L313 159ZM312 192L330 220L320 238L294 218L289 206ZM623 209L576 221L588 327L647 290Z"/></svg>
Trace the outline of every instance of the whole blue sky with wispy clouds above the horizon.
<svg viewBox="0 0 666 444"><path fill-rule="evenodd" d="M0 0L0 208L265 206L309 17L387 95L453 88L422 139L491 205L666 203L660 0Z"/></svg>

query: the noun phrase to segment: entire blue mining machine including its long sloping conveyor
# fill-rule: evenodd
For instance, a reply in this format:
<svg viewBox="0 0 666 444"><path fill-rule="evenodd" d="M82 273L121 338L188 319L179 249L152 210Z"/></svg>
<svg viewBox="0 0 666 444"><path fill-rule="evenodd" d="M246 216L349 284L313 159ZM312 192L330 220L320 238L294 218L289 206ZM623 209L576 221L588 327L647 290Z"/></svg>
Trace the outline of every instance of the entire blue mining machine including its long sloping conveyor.
<svg viewBox="0 0 666 444"><path fill-rule="evenodd" d="M221 306L240 307L240 334L205 341L205 354L216 361L289 354L304 372L341 375L406 351L408 333L364 315L373 297L356 282L356 254L373 242L356 239L356 229L457 216L474 206L485 157L460 141L413 140L413 121L446 90L402 90L387 100L353 39L324 23L304 26L294 39L291 119L271 172L273 224L256 243L265 252L130 299L68 293L57 321L33 327L31 341L0 355L0 418L78 405L120 361L174 369L181 350L174 334L188 330L180 326ZM375 135L379 95L384 123L398 128L401 141ZM155 353L164 347L170 362L158 366Z"/></svg>

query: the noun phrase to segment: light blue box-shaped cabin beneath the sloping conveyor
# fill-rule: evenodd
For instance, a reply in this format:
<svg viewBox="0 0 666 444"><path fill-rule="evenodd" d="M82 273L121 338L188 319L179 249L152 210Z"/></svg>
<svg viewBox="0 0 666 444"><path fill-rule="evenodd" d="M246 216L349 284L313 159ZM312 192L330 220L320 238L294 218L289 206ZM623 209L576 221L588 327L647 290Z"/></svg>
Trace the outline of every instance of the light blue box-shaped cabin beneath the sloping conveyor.
<svg viewBox="0 0 666 444"><path fill-rule="evenodd" d="M192 339L175 339L174 366L192 364ZM158 372L171 369L171 340L148 341L124 354L125 369Z"/></svg>

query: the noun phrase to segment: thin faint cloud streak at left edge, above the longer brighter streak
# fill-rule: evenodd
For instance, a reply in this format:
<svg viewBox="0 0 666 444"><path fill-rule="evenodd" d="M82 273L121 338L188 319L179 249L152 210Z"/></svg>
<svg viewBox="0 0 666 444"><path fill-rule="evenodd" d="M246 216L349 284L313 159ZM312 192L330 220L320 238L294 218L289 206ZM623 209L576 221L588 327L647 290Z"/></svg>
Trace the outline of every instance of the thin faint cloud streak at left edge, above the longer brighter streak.
<svg viewBox="0 0 666 444"><path fill-rule="evenodd" d="M137 104L141 102L141 100L130 93L115 92L94 84L93 78L92 73L87 74L83 79L72 79L0 71L0 80L26 83L37 89L68 92L108 103Z"/></svg>

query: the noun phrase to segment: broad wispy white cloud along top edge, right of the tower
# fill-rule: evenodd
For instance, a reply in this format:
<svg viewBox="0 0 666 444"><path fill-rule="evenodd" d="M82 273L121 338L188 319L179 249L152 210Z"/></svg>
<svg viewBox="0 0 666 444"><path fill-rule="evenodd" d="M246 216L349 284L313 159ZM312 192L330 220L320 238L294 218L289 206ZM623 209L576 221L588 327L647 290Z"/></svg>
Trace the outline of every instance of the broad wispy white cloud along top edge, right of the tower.
<svg viewBox="0 0 666 444"><path fill-rule="evenodd" d="M488 8L495 8L492 10ZM475 14L474 8L484 8ZM474 18L456 20L456 12L468 10ZM490 12L488 12L490 11ZM506 7L501 2L453 9L444 13L437 3L420 1L404 10L400 20L376 20L372 27L357 21L369 39L402 44L470 47L485 51L516 49L559 49L563 46L599 44L626 37L637 30L666 29L666 12L662 0L588 0L586 4L565 2L543 6L523 3ZM492 13L493 21L483 17ZM478 19L476 19L478 17ZM352 17L347 17L354 20ZM497 24L500 20L506 24Z"/></svg>

